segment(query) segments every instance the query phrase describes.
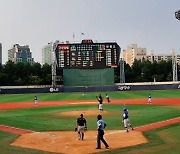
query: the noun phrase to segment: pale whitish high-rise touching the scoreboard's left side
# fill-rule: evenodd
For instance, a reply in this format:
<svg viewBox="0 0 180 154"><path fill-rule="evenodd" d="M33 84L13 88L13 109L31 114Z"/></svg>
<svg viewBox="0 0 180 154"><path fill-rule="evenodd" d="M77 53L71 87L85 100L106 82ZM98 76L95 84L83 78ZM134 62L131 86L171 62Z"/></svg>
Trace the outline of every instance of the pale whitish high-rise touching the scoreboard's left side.
<svg viewBox="0 0 180 154"><path fill-rule="evenodd" d="M42 64L52 64L52 51L53 51L53 42L48 43L42 48Z"/></svg>

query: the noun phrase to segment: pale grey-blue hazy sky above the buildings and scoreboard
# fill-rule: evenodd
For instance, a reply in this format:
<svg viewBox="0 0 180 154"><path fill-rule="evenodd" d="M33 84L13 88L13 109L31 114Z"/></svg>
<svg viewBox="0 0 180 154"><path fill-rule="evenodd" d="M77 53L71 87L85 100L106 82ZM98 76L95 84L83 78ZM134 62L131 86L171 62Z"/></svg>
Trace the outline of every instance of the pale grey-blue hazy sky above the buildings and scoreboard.
<svg viewBox="0 0 180 154"><path fill-rule="evenodd" d="M2 61L20 44L42 63L43 46L56 40L116 41L122 50L137 44L147 53L180 54L177 10L180 0L0 0Z"/></svg>

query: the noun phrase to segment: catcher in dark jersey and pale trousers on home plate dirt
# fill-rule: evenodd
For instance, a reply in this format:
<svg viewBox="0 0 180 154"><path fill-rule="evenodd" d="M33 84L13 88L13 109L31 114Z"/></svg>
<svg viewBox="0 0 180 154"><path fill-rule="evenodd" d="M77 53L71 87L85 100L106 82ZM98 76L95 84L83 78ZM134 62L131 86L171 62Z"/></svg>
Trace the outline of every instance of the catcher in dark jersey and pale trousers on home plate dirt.
<svg viewBox="0 0 180 154"><path fill-rule="evenodd" d="M83 114L77 119L77 127L75 132L78 132L78 139L84 140L84 132L87 130L86 119L83 117Z"/></svg>

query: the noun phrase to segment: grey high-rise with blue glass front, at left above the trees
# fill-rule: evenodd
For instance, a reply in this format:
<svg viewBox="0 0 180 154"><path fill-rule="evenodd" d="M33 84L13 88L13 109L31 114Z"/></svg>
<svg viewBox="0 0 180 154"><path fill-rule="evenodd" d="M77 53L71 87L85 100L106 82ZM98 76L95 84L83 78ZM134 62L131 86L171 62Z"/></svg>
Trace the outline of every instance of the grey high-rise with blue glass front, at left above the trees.
<svg viewBox="0 0 180 154"><path fill-rule="evenodd" d="M15 64L18 62L29 62L30 64L34 63L34 58L32 58L32 53L30 52L28 45L13 45L12 49L8 50L8 60L11 60Z"/></svg>

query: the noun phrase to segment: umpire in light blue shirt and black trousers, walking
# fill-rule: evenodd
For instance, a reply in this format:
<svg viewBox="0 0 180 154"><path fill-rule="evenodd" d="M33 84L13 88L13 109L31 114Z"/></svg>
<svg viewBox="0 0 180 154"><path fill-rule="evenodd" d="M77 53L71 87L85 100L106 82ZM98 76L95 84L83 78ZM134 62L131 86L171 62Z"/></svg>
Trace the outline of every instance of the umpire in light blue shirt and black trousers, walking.
<svg viewBox="0 0 180 154"><path fill-rule="evenodd" d="M104 140L104 129L106 128L106 123L104 120L102 120L102 115L97 116L97 148L96 149L101 149L101 141L104 143L106 149L109 149L109 145L107 142Z"/></svg>

